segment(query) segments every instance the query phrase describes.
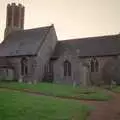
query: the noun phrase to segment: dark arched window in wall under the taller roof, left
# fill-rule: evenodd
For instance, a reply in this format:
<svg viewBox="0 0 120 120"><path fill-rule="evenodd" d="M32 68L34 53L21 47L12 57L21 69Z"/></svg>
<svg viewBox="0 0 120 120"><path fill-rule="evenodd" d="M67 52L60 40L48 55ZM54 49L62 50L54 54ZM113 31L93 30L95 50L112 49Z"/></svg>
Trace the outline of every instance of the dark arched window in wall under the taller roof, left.
<svg viewBox="0 0 120 120"><path fill-rule="evenodd" d="M27 75L28 74L28 63L27 63L27 59L26 58L22 58L21 59L21 75Z"/></svg>

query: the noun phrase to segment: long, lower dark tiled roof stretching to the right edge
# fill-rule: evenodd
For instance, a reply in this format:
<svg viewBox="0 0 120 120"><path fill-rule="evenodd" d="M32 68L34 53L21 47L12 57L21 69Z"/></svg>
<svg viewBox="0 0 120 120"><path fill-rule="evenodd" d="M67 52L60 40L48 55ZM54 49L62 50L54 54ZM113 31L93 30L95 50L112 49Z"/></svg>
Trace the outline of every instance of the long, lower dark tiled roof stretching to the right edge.
<svg viewBox="0 0 120 120"><path fill-rule="evenodd" d="M66 50L80 57L120 54L120 36L108 35L59 41L52 57L59 57Z"/></svg>

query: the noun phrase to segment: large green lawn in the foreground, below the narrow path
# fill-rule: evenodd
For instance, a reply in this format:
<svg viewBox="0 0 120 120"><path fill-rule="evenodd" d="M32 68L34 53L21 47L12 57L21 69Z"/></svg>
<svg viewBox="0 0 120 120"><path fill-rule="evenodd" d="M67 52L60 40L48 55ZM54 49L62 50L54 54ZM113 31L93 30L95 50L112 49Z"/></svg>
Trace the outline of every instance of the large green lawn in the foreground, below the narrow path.
<svg viewBox="0 0 120 120"><path fill-rule="evenodd" d="M85 120L91 109L75 100L0 89L0 120Z"/></svg>

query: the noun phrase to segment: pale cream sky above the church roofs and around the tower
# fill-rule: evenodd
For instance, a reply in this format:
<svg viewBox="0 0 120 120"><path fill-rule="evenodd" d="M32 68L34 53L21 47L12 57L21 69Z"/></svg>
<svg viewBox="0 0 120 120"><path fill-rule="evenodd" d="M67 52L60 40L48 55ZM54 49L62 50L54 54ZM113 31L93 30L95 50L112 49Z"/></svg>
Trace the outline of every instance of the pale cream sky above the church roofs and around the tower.
<svg viewBox="0 0 120 120"><path fill-rule="evenodd" d="M120 0L0 0L0 42L12 2L25 6L25 29L54 24L59 40L120 33Z"/></svg>

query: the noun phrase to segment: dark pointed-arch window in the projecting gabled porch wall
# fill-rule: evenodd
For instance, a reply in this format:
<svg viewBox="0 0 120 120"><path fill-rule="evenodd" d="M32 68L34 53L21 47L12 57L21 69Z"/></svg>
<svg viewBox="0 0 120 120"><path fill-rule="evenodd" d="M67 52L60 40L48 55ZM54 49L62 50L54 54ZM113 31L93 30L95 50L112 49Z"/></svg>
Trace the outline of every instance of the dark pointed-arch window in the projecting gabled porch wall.
<svg viewBox="0 0 120 120"><path fill-rule="evenodd" d="M64 76L71 76L71 63L68 60L64 61Z"/></svg>

